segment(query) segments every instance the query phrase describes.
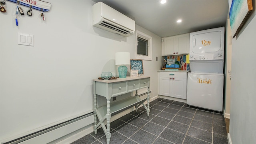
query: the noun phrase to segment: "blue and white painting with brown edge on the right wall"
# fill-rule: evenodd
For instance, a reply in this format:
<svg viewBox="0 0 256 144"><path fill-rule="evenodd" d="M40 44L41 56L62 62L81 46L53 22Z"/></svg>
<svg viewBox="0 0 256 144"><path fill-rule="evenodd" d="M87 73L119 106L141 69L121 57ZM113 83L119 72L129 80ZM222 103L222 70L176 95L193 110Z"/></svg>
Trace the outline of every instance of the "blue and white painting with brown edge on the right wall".
<svg viewBox="0 0 256 144"><path fill-rule="evenodd" d="M252 11L252 0L228 0L232 38L234 38Z"/></svg>

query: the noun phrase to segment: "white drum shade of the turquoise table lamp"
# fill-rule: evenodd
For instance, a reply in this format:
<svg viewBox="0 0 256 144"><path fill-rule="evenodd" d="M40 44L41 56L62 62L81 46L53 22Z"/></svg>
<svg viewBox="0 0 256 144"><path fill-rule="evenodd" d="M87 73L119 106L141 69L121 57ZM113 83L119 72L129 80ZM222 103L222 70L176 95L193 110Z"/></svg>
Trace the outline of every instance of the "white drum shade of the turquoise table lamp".
<svg viewBox="0 0 256 144"><path fill-rule="evenodd" d="M116 65L130 65L130 52L116 52Z"/></svg>

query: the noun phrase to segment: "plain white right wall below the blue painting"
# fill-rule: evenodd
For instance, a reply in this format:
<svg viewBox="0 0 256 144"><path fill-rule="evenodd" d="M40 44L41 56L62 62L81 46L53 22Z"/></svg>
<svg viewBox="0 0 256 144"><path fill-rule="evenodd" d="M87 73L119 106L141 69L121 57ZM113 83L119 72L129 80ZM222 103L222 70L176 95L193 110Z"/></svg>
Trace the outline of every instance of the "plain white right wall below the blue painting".
<svg viewBox="0 0 256 144"><path fill-rule="evenodd" d="M256 0L253 1L255 7ZM254 8L255 9L255 8ZM256 142L256 12L232 39L230 137L232 144Z"/></svg>

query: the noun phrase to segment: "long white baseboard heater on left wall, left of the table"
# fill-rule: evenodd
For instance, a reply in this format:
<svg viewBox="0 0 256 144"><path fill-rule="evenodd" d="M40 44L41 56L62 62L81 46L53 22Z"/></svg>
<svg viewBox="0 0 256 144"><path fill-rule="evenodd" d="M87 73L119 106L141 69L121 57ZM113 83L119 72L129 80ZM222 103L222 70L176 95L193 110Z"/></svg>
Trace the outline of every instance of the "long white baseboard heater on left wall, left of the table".
<svg viewBox="0 0 256 144"><path fill-rule="evenodd" d="M10 140L8 142L2 142L1 144L45 144L48 142L52 142L62 136L70 134L84 126L92 124L94 122L94 112L90 112L88 114L84 114L82 116L78 116L76 118L72 118L71 120L67 120L60 124L56 124L54 126L50 126L49 128L45 128L43 130L33 132L32 134L28 134L26 136L22 136L20 138L16 138L14 140ZM53 134L50 134L52 132ZM47 134L49 133L49 134ZM57 134L56 134L57 133ZM45 135L45 136L44 136ZM54 137L53 137L53 136ZM36 139L36 137L42 136L42 138ZM50 138L48 138L50 137ZM41 140L44 140L41 141ZM26 142L28 141L28 142ZM45 142L47 141L47 142ZM36 142L36 143L35 143Z"/></svg>

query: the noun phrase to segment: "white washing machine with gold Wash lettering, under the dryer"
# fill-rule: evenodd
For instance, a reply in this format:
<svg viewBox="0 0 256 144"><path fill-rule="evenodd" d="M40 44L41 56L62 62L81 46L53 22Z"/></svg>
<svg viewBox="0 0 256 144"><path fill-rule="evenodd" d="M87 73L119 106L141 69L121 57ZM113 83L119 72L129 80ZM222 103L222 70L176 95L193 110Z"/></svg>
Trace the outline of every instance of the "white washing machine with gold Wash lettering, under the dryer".
<svg viewBox="0 0 256 144"><path fill-rule="evenodd" d="M188 73L187 104L222 112L223 74Z"/></svg>

